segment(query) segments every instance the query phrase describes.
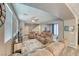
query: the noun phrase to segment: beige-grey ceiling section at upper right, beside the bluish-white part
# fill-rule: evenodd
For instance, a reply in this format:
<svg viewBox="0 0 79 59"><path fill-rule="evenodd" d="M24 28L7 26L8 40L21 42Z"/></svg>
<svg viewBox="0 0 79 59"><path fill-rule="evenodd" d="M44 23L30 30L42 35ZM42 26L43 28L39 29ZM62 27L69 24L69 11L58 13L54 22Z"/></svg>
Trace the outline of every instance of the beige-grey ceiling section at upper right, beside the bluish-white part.
<svg viewBox="0 0 79 59"><path fill-rule="evenodd" d="M27 3L25 5L42 9L64 20L74 18L73 14L64 3Z"/></svg>

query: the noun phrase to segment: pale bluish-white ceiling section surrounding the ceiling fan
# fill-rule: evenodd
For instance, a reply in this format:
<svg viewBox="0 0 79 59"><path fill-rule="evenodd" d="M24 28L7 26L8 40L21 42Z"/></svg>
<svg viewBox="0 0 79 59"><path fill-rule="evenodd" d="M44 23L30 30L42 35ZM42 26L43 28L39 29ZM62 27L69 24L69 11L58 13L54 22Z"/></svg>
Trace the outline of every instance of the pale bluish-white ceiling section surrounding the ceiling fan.
<svg viewBox="0 0 79 59"><path fill-rule="evenodd" d="M26 23L32 23L32 17L37 17L39 20L38 23L50 23L57 19L54 15L51 15L43 10L33 8L24 4L13 4L17 16L20 20L25 21Z"/></svg>

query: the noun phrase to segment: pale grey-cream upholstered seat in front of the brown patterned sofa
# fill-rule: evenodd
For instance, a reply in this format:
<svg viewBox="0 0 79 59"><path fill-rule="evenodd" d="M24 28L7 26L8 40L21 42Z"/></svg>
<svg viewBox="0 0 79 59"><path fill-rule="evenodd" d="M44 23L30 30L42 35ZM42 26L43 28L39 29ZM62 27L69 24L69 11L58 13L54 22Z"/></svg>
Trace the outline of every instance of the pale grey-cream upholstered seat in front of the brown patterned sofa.
<svg viewBox="0 0 79 59"><path fill-rule="evenodd" d="M24 41L22 46L22 54L28 54L41 47L43 47L43 44L36 39Z"/></svg>

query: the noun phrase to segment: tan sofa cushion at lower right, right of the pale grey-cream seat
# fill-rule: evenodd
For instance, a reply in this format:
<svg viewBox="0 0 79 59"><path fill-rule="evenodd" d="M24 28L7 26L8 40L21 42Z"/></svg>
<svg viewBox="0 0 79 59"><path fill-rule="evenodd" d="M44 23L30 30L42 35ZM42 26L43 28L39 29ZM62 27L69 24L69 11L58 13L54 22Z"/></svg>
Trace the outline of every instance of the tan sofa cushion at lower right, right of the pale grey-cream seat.
<svg viewBox="0 0 79 59"><path fill-rule="evenodd" d="M55 56L58 56L61 53L61 51L64 49L64 43L54 42L54 43L49 44L46 47L46 49L48 49Z"/></svg>

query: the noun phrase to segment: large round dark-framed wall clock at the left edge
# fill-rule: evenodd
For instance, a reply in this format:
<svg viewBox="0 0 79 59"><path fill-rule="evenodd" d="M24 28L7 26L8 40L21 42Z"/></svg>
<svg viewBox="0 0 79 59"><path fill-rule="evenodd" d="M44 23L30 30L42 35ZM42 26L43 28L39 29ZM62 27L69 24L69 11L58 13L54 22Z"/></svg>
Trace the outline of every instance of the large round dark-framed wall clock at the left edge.
<svg viewBox="0 0 79 59"><path fill-rule="evenodd" d="M0 27L5 23L6 8L4 3L0 3Z"/></svg>

